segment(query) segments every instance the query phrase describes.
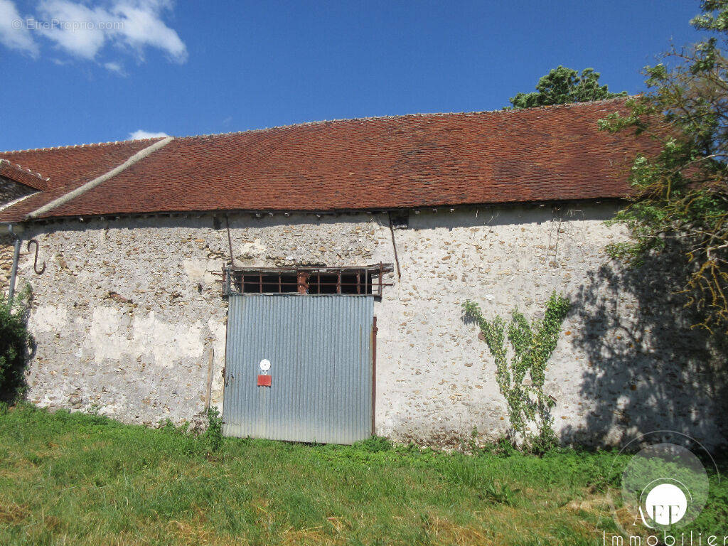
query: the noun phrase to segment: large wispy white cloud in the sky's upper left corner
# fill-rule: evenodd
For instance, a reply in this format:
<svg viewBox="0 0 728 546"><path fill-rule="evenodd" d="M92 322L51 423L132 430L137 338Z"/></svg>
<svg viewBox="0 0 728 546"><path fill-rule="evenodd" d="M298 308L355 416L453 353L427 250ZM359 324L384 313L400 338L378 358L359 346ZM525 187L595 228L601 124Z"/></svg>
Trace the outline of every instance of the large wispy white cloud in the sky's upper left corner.
<svg viewBox="0 0 728 546"><path fill-rule="evenodd" d="M162 20L172 4L164 0L100 0L95 3L73 0L42 0L37 13L20 21L12 0L0 0L0 42L15 49L37 54L36 36L50 40L71 57L98 60L109 45L132 51L140 60L148 47L165 52L177 62L187 60L187 48L178 33ZM30 23L30 24L28 24ZM16 28L18 27L18 28ZM101 62L117 71L116 60Z"/></svg>

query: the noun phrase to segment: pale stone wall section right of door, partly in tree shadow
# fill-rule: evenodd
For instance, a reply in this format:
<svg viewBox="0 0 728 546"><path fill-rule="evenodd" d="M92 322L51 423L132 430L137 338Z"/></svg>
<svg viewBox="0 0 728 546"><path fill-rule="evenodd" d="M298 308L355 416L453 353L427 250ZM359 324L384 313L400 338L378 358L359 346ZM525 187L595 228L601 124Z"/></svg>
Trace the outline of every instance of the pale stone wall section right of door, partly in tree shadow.
<svg viewBox="0 0 728 546"><path fill-rule="evenodd" d="M395 237L402 279L379 316L380 432L462 438L507 428L494 361L462 303L488 317L542 317L553 290L572 310L547 368L565 443L619 444L670 429L721 443L726 371L678 319L660 274L625 272L604 252L625 234L613 205L410 215Z"/></svg>

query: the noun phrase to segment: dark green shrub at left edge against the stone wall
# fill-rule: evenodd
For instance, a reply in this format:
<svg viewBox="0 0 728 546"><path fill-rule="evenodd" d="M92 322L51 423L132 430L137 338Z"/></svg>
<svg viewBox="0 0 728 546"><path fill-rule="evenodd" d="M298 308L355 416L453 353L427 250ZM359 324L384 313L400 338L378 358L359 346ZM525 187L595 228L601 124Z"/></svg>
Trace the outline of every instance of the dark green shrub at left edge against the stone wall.
<svg viewBox="0 0 728 546"><path fill-rule="evenodd" d="M33 337L28 333L30 285L10 304L0 295L0 400L12 402L25 392L25 365Z"/></svg>

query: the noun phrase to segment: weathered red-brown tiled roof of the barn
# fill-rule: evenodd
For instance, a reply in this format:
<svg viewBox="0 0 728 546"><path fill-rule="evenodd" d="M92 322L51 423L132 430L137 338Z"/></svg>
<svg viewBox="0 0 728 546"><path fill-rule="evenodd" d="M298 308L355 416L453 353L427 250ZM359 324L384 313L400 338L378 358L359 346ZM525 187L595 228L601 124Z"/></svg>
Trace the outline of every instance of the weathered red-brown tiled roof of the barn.
<svg viewBox="0 0 728 546"><path fill-rule="evenodd" d="M416 114L175 138L41 217L207 210L381 210L625 197L646 138L610 135L605 100L518 111ZM19 221L154 141L0 154L50 176ZM42 201L42 202L41 202Z"/></svg>

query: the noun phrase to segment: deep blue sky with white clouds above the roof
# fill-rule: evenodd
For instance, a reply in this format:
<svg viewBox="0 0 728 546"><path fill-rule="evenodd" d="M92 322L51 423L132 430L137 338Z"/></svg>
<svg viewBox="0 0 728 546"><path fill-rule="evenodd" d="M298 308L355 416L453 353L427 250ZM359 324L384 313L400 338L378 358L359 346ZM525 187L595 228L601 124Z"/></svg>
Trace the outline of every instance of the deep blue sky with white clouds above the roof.
<svg viewBox="0 0 728 546"><path fill-rule="evenodd" d="M611 90L691 0L0 0L0 150L507 106L559 64ZM30 20L30 21L29 21Z"/></svg>

